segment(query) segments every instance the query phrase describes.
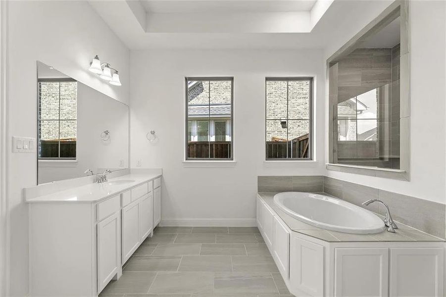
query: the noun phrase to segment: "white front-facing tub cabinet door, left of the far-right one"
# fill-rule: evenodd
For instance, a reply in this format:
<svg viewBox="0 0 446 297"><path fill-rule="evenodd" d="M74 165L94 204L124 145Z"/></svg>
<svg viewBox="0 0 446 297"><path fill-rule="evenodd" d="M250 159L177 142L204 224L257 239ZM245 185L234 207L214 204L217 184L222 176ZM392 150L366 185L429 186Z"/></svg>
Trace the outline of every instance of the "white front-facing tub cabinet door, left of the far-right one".
<svg viewBox="0 0 446 297"><path fill-rule="evenodd" d="M386 297L388 290L388 248L335 248L335 297Z"/></svg>

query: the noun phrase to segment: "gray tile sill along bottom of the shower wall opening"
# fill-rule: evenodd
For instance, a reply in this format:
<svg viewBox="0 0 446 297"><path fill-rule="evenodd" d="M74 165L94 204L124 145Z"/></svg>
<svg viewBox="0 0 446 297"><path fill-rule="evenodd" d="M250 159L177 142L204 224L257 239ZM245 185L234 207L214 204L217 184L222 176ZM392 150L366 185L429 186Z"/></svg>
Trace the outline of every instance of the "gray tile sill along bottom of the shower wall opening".
<svg viewBox="0 0 446 297"><path fill-rule="evenodd" d="M347 165L347 164L325 164L327 170L340 171L353 174L361 174L382 178L397 179L403 181L409 181L409 174L405 170L391 169L391 168L379 168L373 166L359 166L359 165Z"/></svg>

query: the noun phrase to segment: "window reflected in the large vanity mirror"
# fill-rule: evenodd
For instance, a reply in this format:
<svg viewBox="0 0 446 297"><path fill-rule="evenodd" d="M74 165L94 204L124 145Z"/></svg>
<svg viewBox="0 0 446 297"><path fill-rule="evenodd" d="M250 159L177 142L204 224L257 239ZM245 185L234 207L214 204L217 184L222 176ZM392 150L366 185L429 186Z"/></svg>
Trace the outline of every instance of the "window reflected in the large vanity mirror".
<svg viewBox="0 0 446 297"><path fill-rule="evenodd" d="M38 157L75 159L77 82L39 80L38 102Z"/></svg>

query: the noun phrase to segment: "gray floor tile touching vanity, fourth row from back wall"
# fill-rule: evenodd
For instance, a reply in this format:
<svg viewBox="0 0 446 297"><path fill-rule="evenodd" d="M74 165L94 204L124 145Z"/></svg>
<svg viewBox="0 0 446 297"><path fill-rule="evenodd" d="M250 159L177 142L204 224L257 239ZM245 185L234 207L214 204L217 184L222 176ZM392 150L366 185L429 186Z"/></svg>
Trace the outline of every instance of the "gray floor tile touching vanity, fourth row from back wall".
<svg viewBox="0 0 446 297"><path fill-rule="evenodd" d="M177 271L180 256L134 256L124 271Z"/></svg>

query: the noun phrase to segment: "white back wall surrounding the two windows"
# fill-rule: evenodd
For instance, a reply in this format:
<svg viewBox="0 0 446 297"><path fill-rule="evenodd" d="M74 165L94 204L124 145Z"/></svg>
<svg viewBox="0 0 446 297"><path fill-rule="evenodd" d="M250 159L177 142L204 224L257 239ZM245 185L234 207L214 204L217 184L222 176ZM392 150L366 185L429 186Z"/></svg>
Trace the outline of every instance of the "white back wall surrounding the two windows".
<svg viewBox="0 0 446 297"><path fill-rule="evenodd" d="M320 50L131 52L131 167L162 167L162 217L253 219L258 175L321 175L324 60ZM234 156L227 168L184 167L185 76L234 77ZM315 76L314 164L265 165L265 77ZM159 141L149 143L155 130ZM280 165L279 165L280 166Z"/></svg>

